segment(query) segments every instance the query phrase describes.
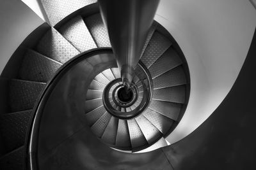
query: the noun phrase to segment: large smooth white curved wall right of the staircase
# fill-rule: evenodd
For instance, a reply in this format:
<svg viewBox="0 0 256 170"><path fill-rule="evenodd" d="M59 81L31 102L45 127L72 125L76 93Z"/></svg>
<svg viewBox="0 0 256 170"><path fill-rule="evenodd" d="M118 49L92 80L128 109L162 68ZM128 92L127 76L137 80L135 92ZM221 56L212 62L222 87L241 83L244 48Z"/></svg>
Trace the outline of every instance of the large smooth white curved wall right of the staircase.
<svg viewBox="0 0 256 170"><path fill-rule="evenodd" d="M256 26L256 10L241 0L161 0L156 20L188 60L191 94L171 144L202 124L227 96L243 66Z"/></svg>

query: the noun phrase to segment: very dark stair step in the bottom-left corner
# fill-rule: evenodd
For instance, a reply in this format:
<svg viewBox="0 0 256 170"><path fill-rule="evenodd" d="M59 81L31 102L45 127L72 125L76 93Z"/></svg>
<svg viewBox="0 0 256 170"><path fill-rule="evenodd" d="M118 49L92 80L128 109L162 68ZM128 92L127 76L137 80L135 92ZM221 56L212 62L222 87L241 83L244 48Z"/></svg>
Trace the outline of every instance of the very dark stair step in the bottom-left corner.
<svg viewBox="0 0 256 170"><path fill-rule="evenodd" d="M0 169L3 170L24 170L25 169L24 146L7 153L0 158Z"/></svg>

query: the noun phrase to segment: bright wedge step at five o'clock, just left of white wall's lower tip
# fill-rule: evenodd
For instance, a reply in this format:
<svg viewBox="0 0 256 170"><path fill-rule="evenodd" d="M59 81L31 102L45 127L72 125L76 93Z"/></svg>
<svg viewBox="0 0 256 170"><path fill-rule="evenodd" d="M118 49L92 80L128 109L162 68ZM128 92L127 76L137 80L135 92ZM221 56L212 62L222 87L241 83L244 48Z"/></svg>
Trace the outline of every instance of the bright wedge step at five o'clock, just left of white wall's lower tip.
<svg viewBox="0 0 256 170"><path fill-rule="evenodd" d="M155 143L161 138L161 132L143 115L135 118L137 124L139 125L141 132L147 139L148 144Z"/></svg>

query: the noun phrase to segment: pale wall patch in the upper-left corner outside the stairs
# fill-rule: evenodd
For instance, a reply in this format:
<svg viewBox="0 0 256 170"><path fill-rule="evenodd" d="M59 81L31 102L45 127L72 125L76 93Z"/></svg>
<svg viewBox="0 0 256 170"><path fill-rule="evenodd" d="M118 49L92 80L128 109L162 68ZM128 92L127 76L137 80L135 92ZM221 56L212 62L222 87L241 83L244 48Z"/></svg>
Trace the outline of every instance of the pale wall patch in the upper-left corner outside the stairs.
<svg viewBox="0 0 256 170"><path fill-rule="evenodd" d="M0 5L0 73L20 43L44 23L20 0L1 0Z"/></svg>

